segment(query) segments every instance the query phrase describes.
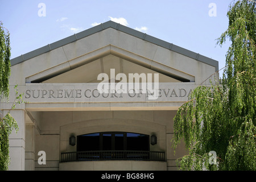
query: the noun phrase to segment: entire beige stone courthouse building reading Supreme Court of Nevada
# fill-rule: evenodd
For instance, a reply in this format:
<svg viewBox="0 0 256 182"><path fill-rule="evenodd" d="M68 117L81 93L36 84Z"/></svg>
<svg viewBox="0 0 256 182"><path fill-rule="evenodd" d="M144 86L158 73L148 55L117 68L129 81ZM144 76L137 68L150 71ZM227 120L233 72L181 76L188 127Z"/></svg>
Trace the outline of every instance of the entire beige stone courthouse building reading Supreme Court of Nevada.
<svg viewBox="0 0 256 182"><path fill-rule="evenodd" d="M18 85L9 170L177 170L187 151L174 155L173 119L216 71L216 60L112 21L24 53L0 103L5 115Z"/></svg>

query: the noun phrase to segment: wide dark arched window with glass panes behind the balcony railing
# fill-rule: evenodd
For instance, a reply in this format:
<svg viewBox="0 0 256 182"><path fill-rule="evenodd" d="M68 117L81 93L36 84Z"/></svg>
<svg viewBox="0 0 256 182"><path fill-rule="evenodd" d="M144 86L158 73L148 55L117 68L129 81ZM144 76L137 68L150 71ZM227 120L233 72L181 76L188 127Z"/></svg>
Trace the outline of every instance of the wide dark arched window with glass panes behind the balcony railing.
<svg viewBox="0 0 256 182"><path fill-rule="evenodd" d="M149 148L149 135L144 134L102 132L77 136L77 151L149 151Z"/></svg>

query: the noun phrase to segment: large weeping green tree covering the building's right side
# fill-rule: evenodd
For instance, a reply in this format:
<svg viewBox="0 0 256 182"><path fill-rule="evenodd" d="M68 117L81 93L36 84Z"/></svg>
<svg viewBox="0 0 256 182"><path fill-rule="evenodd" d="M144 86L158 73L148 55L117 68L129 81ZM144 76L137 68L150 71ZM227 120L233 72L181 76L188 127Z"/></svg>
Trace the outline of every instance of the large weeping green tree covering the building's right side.
<svg viewBox="0 0 256 182"><path fill-rule="evenodd" d="M230 3L229 38L221 84L193 90L174 118L174 148L184 139L183 170L256 170L256 2ZM217 163L210 161L216 152Z"/></svg>

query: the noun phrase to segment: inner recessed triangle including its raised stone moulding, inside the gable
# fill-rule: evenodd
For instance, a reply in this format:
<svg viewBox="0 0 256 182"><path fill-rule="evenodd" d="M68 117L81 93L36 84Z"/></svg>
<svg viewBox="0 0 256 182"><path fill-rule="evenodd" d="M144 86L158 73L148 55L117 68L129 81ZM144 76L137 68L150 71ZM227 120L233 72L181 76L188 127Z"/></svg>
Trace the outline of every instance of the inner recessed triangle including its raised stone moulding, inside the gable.
<svg viewBox="0 0 256 182"><path fill-rule="evenodd" d="M110 69L115 69L115 74L125 73L127 79L129 73L159 73L160 82L189 82L195 79L187 73L109 45L27 77L26 82L100 82L98 75L106 73L110 78Z"/></svg>

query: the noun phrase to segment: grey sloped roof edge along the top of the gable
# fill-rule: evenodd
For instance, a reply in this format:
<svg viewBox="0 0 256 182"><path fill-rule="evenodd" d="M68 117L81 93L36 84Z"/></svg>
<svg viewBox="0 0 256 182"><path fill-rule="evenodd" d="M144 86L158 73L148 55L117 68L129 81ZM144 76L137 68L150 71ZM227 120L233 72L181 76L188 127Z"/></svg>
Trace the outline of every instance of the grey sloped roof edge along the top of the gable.
<svg viewBox="0 0 256 182"><path fill-rule="evenodd" d="M105 30L107 28L114 28L115 30L118 30L118 31L124 32L126 34L135 36L136 38L145 40L145 41L150 42L152 44L156 44L160 47L170 49L171 51L180 53L181 55L191 57L192 59L195 59L197 61L201 61L205 64L209 64L209 65L215 67L216 71L218 71L218 61L216 61L216 60L210 59L209 57L200 55L199 53L189 51L188 49L176 46L175 44L168 43L164 40L160 40L158 38L155 38L155 37L150 36L148 34L145 34L143 32L134 30L133 28L129 28L129 27L123 26L122 24L115 23L115 22L112 22L112 21L101 23L98 26L89 28L88 30L81 31L77 34L68 36L67 38L64 38L64 39L61 39L57 42L48 44L47 46L35 49L34 51L31 51L31 52L25 53L24 55L20 55L18 57L15 57L14 59L10 60L11 65L22 63L23 61L31 59L32 57L36 57L36 56L39 56L43 53L52 51L53 49L56 49L56 48L59 48L59 47L62 47L64 45L66 45L66 44L75 42L76 40L85 38L86 36L95 34L97 32Z"/></svg>

